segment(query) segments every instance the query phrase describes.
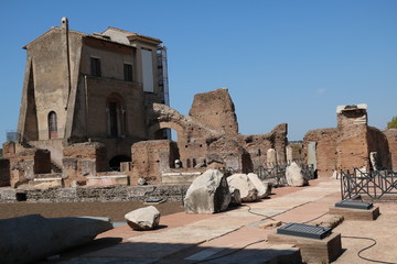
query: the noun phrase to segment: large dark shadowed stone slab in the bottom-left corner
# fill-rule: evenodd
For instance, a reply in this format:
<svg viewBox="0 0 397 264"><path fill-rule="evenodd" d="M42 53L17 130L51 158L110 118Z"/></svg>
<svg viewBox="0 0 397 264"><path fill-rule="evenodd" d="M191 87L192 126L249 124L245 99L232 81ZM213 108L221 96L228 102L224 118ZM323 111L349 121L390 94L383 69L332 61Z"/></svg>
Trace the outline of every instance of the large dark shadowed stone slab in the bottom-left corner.
<svg viewBox="0 0 397 264"><path fill-rule="evenodd" d="M0 220L0 263L35 263L88 243L112 229L106 218L44 218L30 215Z"/></svg>

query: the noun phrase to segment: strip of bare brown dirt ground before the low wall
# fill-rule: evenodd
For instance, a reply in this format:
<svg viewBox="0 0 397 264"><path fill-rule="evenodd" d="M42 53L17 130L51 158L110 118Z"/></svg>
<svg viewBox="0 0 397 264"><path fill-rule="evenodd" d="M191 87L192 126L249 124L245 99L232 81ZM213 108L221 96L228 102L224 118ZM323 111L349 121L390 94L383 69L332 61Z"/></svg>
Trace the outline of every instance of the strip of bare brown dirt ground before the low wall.
<svg viewBox="0 0 397 264"><path fill-rule="evenodd" d="M42 215L57 217L107 217L111 221L125 221L124 216L135 209L147 207L141 201L115 202L7 202L0 204L0 219ZM153 205L162 216L183 211L181 201L165 201Z"/></svg>

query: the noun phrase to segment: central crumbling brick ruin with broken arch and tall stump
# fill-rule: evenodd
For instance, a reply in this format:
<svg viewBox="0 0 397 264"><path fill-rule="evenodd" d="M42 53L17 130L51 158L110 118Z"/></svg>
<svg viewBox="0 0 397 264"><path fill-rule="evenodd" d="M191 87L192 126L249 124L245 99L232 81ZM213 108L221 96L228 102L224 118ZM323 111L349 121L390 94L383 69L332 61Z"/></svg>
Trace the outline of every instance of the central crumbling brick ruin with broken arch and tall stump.
<svg viewBox="0 0 397 264"><path fill-rule="evenodd" d="M178 142L133 144L132 184L137 177L154 183L170 182L170 177L186 182L207 167L251 172L267 162L269 150L275 151L275 162L286 162L287 124L267 134L239 134L234 103L225 88L195 95L189 116L159 103L153 105L153 114L152 133L161 136L162 129L173 129Z"/></svg>

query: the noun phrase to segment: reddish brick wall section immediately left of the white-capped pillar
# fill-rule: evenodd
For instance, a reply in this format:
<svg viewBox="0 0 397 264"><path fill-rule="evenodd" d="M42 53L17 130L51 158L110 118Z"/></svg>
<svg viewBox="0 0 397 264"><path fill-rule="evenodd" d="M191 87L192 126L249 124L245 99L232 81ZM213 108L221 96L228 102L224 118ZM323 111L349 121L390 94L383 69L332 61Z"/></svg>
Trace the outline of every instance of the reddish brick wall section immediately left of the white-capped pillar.
<svg viewBox="0 0 397 264"><path fill-rule="evenodd" d="M336 169L337 129L311 130L303 138L307 147L309 142L316 142L316 168L320 177L332 176ZM307 148L304 150L307 153Z"/></svg>

